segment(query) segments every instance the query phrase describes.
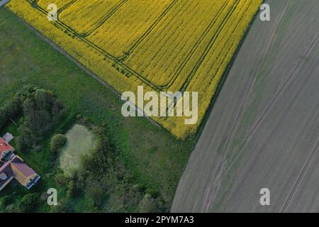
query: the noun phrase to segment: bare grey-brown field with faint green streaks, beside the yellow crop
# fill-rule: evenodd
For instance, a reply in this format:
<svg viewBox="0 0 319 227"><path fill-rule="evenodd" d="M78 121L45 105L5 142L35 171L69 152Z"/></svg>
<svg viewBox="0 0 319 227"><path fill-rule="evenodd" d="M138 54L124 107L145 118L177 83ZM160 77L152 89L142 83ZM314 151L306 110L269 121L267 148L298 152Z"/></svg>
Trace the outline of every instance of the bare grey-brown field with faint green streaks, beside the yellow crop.
<svg viewBox="0 0 319 227"><path fill-rule="evenodd" d="M272 20L254 21L172 211L319 212L319 1L266 2Z"/></svg>

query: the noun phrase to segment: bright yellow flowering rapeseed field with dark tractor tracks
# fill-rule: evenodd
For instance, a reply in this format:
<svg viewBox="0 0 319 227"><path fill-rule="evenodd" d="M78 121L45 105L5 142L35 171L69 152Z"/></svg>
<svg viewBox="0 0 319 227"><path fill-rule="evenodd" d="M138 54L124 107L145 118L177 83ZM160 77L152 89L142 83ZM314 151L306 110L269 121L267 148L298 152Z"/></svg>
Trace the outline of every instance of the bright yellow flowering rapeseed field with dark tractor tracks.
<svg viewBox="0 0 319 227"><path fill-rule="evenodd" d="M194 134L262 0L12 0L11 11L117 92L198 92L198 122L156 118ZM47 20L56 4L58 21Z"/></svg>

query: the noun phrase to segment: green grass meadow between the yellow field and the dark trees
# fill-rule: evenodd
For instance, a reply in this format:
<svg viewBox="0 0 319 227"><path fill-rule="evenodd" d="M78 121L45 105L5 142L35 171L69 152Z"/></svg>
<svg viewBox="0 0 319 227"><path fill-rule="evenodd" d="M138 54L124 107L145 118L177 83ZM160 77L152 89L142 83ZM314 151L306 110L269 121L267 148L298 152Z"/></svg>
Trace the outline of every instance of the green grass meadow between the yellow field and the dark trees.
<svg viewBox="0 0 319 227"><path fill-rule="evenodd" d="M196 138L177 140L146 118L124 118L118 94L86 74L4 8L0 9L0 82L0 105L26 84L54 92L67 109L67 115L54 133L71 128L78 114L96 126L105 123L118 157L135 181L159 192L168 204L172 202ZM4 131L17 133L13 123ZM43 141L39 153L21 154L43 177L33 189L40 193L55 186L50 177L55 166L51 165L47 148L52 135ZM20 185L13 189L18 195L28 193ZM11 191L9 187L1 194ZM45 206L40 211L46 211Z"/></svg>

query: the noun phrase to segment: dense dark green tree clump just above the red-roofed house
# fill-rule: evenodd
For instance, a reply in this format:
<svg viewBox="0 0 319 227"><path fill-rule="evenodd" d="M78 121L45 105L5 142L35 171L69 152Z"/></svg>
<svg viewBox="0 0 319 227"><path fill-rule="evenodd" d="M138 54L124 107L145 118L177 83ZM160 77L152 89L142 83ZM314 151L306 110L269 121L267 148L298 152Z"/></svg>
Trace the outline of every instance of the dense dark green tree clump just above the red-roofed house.
<svg viewBox="0 0 319 227"><path fill-rule="evenodd" d="M64 106L52 92L28 85L0 107L0 129L10 119L23 114L17 149L27 151L52 130L60 120L63 109Z"/></svg>

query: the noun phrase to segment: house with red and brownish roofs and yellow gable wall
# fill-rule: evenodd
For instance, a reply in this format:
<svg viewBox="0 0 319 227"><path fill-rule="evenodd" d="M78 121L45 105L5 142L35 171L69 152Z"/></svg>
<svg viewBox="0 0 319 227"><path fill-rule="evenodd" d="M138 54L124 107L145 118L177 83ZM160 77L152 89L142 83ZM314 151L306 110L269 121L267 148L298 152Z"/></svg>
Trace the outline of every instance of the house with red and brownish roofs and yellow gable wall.
<svg viewBox="0 0 319 227"><path fill-rule="evenodd" d="M33 187L40 179L21 157L13 153L14 151L14 148L0 137L0 191L13 179L27 189Z"/></svg>

